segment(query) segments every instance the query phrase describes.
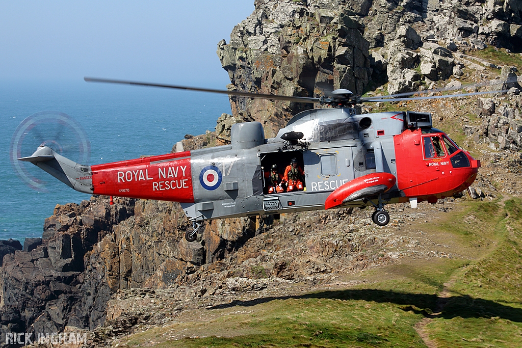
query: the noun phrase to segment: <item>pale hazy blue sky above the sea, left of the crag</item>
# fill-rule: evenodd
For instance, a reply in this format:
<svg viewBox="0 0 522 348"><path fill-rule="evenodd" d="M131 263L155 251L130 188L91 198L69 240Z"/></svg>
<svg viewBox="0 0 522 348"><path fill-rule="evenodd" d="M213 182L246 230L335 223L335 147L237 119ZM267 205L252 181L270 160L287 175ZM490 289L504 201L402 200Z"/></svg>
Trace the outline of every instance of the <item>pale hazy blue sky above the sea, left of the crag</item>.
<svg viewBox="0 0 522 348"><path fill-rule="evenodd" d="M1 1L0 81L84 76L224 88L216 54L253 0Z"/></svg>

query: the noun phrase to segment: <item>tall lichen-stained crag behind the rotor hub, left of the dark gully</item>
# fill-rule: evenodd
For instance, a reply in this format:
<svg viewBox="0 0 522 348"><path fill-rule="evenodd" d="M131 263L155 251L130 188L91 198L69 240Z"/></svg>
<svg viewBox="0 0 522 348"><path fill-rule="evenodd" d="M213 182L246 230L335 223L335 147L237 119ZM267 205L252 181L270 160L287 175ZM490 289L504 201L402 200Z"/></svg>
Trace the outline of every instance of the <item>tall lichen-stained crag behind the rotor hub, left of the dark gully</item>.
<svg viewBox="0 0 522 348"><path fill-rule="evenodd" d="M360 17L342 3L257 1L254 13L233 29L230 42L218 44L229 88L301 97L337 88L362 94L371 76L370 45ZM268 137L310 106L235 97L231 105L234 118L261 122Z"/></svg>

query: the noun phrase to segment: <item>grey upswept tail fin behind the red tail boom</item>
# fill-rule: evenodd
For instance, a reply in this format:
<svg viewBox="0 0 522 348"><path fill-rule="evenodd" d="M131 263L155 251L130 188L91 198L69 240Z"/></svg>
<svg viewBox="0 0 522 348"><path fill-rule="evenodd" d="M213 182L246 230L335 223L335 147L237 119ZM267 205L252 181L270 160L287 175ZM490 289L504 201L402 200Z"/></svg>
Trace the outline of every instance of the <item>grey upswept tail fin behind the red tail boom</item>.
<svg viewBox="0 0 522 348"><path fill-rule="evenodd" d="M19 158L18 160L31 162L65 185L77 191L92 194L90 165L82 165L71 161L47 146L39 146L32 155Z"/></svg>

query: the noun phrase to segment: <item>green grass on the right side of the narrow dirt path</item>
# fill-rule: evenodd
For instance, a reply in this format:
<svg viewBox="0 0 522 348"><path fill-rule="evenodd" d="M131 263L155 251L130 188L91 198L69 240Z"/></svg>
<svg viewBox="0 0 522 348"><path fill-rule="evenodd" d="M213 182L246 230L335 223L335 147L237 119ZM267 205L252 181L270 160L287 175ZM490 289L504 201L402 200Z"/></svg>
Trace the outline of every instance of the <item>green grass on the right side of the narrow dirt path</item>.
<svg viewBox="0 0 522 348"><path fill-rule="evenodd" d="M478 218L489 224L479 226L494 234L496 246L491 253L456 272L450 287L454 296L442 316L426 327L439 347L521 346L521 204L518 198L507 200L497 211L491 209L491 203L484 205L486 209Z"/></svg>

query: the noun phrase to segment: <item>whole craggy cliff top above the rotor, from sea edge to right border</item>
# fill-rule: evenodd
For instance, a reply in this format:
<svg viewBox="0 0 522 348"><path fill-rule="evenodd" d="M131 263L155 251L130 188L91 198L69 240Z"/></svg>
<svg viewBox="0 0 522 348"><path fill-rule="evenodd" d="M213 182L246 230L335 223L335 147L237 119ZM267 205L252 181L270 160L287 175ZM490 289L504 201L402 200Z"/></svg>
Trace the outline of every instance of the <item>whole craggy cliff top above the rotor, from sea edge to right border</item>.
<svg viewBox="0 0 522 348"><path fill-rule="evenodd" d="M320 97L385 82L389 94L464 75L455 52L520 50L522 5L507 1L258 0L230 42L218 44L230 90ZM499 89L502 86L497 86ZM310 105L231 98L232 116L259 121L267 137Z"/></svg>

